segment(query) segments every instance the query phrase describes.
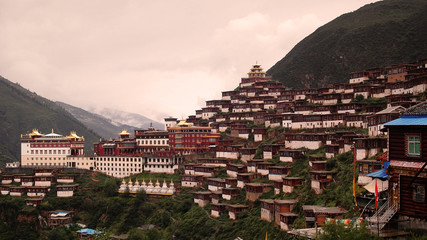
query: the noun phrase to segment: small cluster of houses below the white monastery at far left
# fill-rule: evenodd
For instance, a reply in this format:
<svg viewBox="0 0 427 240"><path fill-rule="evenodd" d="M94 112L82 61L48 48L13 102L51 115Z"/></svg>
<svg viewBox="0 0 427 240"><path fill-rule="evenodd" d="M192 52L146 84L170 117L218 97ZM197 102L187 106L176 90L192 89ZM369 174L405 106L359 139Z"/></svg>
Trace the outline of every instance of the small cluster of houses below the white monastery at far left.
<svg viewBox="0 0 427 240"><path fill-rule="evenodd" d="M46 194L52 187L56 189L57 197L72 197L79 189L74 183L74 176L55 172L53 169L33 169L33 175L2 174L0 191L1 195L26 198L26 204L37 206L43 203Z"/></svg>

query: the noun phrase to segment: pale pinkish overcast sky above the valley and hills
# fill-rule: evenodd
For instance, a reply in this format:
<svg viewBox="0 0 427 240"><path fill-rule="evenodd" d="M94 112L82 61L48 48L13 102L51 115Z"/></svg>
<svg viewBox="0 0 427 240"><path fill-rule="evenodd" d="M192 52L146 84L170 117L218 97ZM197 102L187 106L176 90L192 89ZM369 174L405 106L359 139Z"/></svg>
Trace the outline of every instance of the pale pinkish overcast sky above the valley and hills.
<svg viewBox="0 0 427 240"><path fill-rule="evenodd" d="M184 118L373 0L0 0L0 75L54 101Z"/></svg>

